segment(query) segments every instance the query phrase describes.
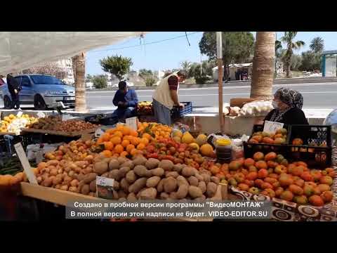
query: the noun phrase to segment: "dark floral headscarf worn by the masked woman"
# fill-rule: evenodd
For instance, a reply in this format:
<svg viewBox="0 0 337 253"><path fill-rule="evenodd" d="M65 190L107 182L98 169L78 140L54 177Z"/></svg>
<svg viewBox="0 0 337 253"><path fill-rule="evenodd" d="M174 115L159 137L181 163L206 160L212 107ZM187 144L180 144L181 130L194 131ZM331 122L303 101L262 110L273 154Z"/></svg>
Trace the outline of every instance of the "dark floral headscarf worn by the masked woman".
<svg viewBox="0 0 337 253"><path fill-rule="evenodd" d="M303 107L302 94L293 89L280 88L275 92L275 98L281 100L286 105L289 105L288 110L290 110L291 108L302 109ZM282 119L282 116L288 110L280 112L278 109L276 109L272 117L270 118L270 121L278 122L280 119Z"/></svg>

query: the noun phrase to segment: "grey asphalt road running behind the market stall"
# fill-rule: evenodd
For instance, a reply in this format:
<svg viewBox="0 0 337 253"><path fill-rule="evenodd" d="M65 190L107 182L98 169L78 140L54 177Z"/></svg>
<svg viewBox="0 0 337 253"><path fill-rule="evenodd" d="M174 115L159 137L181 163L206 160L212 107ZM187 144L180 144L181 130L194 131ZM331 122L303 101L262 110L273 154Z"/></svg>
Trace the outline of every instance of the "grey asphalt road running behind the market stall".
<svg viewBox="0 0 337 253"><path fill-rule="evenodd" d="M296 89L303 94L305 109L333 109L337 108L337 82L306 83L306 84L275 84L273 92L279 87L286 86ZM250 86L224 86L223 102L229 103L230 98L249 98ZM138 100L152 100L153 90L138 90ZM115 91L91 91L86 93L89 108L113 108L112 98ZM180 101L192 101L194 108L217 107L218 88L190 88L180 89ZM3 107L2 101L0 106Z"/></svg>

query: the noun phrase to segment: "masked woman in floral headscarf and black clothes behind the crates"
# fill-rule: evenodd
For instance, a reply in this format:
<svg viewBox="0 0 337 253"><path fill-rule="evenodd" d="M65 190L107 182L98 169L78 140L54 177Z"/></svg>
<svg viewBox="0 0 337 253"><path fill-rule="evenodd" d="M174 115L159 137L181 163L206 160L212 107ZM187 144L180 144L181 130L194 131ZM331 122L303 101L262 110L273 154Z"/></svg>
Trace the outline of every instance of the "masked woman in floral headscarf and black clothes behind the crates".
<svg viewBox="0 0 337 253"><path fill-rule="evenodd" d="M280 88L275 92L272 106L275 108L265 117L271 122L280 122L285 125L309 124L302 110L303 96L298 91Z"/></svg>

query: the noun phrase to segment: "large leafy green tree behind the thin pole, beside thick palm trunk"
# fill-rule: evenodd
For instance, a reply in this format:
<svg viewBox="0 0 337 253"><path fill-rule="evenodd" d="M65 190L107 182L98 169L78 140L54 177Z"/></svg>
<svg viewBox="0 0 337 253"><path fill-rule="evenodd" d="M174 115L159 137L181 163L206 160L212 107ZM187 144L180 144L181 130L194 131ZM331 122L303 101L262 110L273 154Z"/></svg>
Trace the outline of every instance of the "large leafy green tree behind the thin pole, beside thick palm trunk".
<svg viewBox="0 0 337 253"><path fill-rule="evenodd" d="M225 78L227 67L231 63L246 63L254 50L254 37L251 32L222 32L223 65ZM216 59L216 32L204 32L199 42L200 52Z"/></svg>

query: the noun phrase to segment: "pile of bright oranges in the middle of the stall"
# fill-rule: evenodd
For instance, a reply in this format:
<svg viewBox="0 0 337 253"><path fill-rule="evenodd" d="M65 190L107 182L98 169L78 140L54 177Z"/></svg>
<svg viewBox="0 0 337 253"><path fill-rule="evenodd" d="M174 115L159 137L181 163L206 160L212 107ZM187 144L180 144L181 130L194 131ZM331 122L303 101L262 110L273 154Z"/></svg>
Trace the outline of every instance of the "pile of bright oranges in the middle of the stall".
<svg viewBox="0 0 337 253"><path fill-rule="evenodd" d="M150 141L152 141L150 134L145 133L140 137L138 131L120 124L114 129L105 131L96 144L104 145L102 153L105 157L126 157L126 155L143 154L143 150Z"/></svg>

